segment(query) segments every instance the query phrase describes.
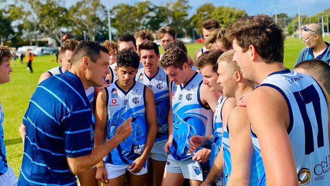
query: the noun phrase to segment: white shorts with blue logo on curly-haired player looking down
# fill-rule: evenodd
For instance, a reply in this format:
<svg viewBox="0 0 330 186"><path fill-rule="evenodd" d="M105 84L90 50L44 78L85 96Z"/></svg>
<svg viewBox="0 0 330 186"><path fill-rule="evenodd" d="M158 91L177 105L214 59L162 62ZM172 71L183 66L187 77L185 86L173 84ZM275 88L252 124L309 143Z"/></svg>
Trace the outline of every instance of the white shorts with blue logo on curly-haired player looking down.
<svg viewBox="0 0 330 186"><path fill-rule="evenodd" d="M181 173L186 179L203 181L203 172L200 163L193 161L191 158L178 161L169 154L165 170L171 173Z"/></svg>

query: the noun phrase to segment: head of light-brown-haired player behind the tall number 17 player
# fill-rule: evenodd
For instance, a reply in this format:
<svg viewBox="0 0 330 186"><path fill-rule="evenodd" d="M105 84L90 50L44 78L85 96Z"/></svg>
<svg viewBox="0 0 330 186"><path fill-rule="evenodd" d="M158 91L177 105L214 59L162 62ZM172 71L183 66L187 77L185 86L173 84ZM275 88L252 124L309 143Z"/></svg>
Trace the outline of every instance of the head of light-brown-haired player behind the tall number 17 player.
<svg viewBox="0 0 330 186"><path fill-rule="evenodd" d="M232 42L228 41L224 35L226 28L217 28L205 39L205 47L208 50L219 49L223 52L232 49Z"/></svg>

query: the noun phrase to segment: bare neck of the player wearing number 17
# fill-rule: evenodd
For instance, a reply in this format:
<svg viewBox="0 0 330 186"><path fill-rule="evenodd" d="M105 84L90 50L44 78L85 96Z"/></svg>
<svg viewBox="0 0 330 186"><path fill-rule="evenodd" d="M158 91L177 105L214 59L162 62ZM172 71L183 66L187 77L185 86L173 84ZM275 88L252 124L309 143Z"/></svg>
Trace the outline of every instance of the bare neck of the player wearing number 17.
<svg viewBox="0 0 330 186"><path fill-rule="evenodd" d="M256 69L254 79L250 80L255 81L257 84L261 84L262 81L265 80L268 75L272 74L273 72L282 71L284 69L285 68L283 64L279 62L273 62L271 64L266 64L262 62Z"/></svg>

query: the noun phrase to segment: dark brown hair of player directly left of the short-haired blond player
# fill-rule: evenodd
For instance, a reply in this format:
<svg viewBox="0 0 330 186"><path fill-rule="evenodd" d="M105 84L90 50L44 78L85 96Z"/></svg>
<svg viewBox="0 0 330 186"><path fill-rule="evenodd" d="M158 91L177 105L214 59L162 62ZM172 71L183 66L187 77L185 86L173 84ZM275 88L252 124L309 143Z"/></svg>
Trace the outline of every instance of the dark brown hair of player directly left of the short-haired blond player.
<svg viewBox="0 0 330 186"><path fill-rule="evenodd" d="M197 58L196 61L196 67L201 69L207 65L211 65L212 66L212 70L213 72L217 72L218 71L218 58L220 57L220 55L223 53L222 50L211 50L211 51L206 51L204 53L202 53L202 55L200 55Z"/></svg>

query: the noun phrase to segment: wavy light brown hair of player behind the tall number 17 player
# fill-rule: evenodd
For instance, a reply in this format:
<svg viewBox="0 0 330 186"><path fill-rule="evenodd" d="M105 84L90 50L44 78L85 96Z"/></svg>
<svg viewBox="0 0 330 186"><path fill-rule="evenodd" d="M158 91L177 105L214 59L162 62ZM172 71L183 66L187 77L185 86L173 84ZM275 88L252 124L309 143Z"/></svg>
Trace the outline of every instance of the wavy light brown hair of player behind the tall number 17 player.
<svg viewBox="0 0 330 186"><path fill-rule="evenodd" d="M212 46L216 41L220 41L222 45L229 50L232 46L232 42L228 41L225 37L226 28L218 28L212 31L212 33L205 39L205 47L209 50L212 49Z"/></svg>

